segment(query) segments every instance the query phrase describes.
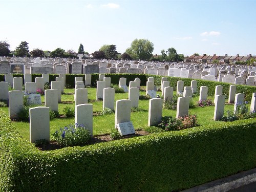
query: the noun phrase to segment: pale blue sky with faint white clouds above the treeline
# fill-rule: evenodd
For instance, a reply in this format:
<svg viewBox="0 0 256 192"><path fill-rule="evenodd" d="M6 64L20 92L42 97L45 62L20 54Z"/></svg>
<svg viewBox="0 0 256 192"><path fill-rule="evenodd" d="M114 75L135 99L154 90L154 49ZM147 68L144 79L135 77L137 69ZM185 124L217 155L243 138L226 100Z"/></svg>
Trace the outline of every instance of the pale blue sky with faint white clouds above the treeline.
<svg viewBox="0 0 256 192"><path fill-rule="evenodd" d="M255 0L3 1L0 40L14 50L92 53L102 45L125 52L134 39L153 42L153 54L174 47L192 55L256 54Z"/></svg>

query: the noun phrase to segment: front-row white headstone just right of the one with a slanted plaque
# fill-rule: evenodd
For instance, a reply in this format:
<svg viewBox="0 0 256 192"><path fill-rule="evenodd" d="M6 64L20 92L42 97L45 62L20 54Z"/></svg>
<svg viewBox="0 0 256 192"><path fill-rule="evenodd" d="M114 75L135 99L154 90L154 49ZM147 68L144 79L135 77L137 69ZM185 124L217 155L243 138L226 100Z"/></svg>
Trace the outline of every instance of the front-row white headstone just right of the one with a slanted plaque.
<svg viewBox="0 0 256 192"><path fill-rule="evenodd" d="M163 99L150 99L147 126L157 125L162 119Z"/></svg>

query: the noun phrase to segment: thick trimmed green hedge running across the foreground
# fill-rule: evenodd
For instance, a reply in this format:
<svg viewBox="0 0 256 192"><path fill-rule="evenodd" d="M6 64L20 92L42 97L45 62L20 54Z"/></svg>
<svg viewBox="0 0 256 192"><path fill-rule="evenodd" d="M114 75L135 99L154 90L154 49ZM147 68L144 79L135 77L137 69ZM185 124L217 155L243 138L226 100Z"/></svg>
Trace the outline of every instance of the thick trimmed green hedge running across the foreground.
<svg viewBox="0 0 256 192"><path fill-rule="evenodd" d="M3 114L1 191L173 191L256 167L256 119L40 152Z"/></svg>

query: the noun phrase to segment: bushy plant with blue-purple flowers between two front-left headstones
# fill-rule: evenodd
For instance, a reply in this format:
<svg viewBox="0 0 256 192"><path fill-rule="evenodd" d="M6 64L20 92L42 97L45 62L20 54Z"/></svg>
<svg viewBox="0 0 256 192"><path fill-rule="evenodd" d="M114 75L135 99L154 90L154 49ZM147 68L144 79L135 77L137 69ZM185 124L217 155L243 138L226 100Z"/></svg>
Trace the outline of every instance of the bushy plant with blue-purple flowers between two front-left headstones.
<svg viewBox="0 0 256 192"><path fill-rule="evenodd" d="M52 134L53 139L61 146L84 146L90 138L90 132L83 124L69 124Z"/></svg>

